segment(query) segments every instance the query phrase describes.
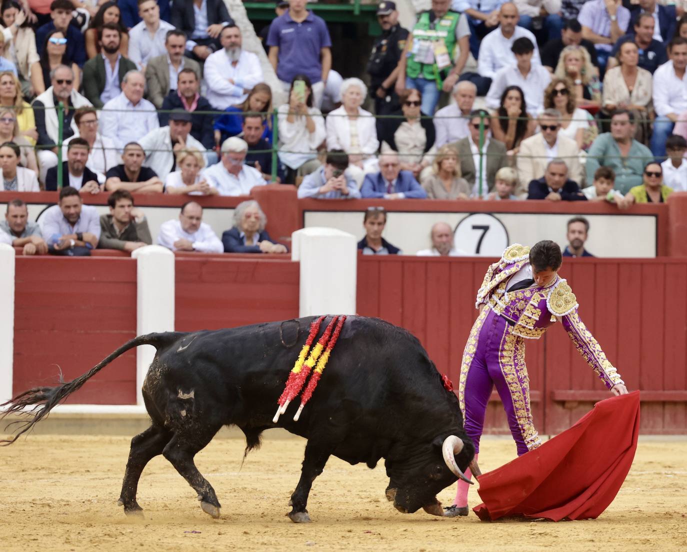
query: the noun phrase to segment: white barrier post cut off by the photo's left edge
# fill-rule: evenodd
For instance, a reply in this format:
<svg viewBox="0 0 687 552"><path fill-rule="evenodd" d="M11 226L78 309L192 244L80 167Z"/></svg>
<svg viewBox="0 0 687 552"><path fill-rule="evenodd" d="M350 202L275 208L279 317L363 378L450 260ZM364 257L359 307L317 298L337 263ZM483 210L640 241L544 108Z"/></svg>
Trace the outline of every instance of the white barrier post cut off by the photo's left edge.
<svg viewBox="0 0 687 552"><path fill-rule="evenodd" d="M14 247L0 243L0 403L12 398L14 371Z"/></svg>

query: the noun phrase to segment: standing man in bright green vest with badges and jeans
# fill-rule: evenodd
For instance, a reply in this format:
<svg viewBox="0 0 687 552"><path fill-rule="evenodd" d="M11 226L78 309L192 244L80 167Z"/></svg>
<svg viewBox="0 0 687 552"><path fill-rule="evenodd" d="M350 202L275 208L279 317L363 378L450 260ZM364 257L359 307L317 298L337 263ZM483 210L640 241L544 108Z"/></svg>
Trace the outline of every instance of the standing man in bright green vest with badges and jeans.
<svg viewBox="0 0 687 552"><path fill-rule="evenodd" d="M450 5L451 0L431 0L431 10L420 13L398 62L397 93L420 91L425 115L434 114L442 90L451 92L470 53L468 20L449 11Z"/></svg>

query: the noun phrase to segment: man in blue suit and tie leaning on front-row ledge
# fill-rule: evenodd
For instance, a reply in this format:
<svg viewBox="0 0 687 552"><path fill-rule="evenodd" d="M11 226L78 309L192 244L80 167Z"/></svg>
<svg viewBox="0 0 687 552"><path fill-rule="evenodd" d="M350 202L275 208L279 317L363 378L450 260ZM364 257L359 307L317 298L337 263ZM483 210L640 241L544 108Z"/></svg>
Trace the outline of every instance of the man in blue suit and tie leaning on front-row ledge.
<svg viewBox="0 0 687 552"><path fill-rule="evenodd" d="M398 154L383 153L379 156L379 173L365 175L360 195L378 199L425 199L427 192L409 170L401 170Z"/></svg>

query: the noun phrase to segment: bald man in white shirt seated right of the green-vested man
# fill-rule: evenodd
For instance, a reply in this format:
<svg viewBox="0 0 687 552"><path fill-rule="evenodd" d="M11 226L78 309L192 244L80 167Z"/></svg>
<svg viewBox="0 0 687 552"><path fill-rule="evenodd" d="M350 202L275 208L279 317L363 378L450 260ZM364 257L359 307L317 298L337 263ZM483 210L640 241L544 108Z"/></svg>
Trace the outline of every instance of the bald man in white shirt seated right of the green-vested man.
<svg viewBox="0 0 687 552"><path fill-rule="evenodd" d="M477 74L471 73L469 80L477 85L477 95L484 96L491 85L492 79L499 69L506 65L515 65L515 55L511 51L513 43L521 37L529 38L534 44L532 65L541 65L537 39L534 34L517 23L520 19L517 7L512 2L506 2L499 10L499 27L482 38L480 43L480 58L477 61Z"/></svg>

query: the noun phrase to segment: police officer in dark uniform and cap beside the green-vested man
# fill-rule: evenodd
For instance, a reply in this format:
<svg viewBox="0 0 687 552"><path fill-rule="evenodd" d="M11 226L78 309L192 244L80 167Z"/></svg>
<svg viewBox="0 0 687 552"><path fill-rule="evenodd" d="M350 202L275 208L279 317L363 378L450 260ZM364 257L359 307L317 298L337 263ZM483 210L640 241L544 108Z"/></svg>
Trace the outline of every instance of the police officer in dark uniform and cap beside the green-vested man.
<svg viewBox="0 0 687 552"><path fill-rule="evenodd" d="M374 112L388 115L401 108L394 87L398 77L398 60L405 48L408 32L398 24L396 4L383 1L377 7L377 21L382 34L372 46L368 61L370 94L374 98Z"/></svg>

